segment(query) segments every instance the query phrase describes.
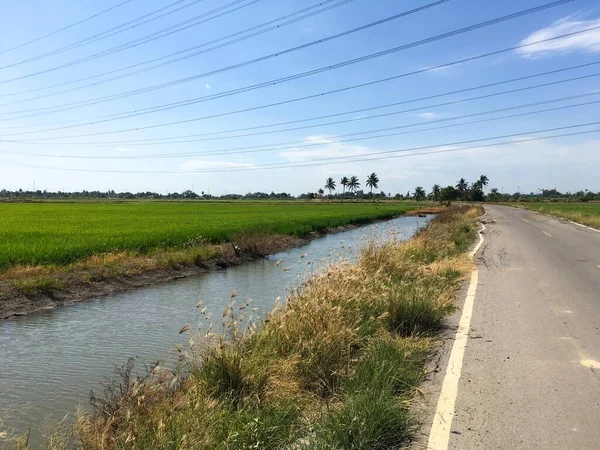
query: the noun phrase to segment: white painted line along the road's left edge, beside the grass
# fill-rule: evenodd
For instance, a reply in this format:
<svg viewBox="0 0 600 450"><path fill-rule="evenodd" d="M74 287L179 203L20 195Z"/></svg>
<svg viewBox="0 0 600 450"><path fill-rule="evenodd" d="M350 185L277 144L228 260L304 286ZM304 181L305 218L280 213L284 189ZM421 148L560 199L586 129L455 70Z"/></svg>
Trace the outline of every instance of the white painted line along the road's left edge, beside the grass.
<svg viewBox="0 0 600 450"><path fill-rule="evenodd" d="M483 244L482 232L484 230L485 225L482 224L482 229L479 232L479 243L475 246L473 251L469 253L471 258L475 257L475 254ZM458 395L458 382L460 381L465 348L467 347L467 341L469 339L469 330L471 328L471 317L473 316L473 304L475 302L478 279L479 272L477 271L477 266L475 266L473 272L471 272L471 282L469 284L469 290L467 291L467 298L465 299L463 312L458 324L458 330L456 331L456 337L454 339L454 344L452 345L450 359L448 360L448 368L446 369L446 375L444 376L444 381L442 383L442 391L440 392L433 425L429 433L427 448L430 450L448 449L452 419L454 418L454 405Z"/></svg>

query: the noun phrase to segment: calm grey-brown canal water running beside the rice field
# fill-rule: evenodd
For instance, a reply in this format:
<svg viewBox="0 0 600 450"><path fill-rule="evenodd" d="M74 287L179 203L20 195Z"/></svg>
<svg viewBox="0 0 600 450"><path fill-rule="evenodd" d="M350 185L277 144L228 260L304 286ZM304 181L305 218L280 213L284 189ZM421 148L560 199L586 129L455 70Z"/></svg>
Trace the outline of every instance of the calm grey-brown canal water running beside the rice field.
<svg viewBox="0 0 600 450"><path fill-rule="evenodd" d="M0 321L0 433L31 426L39 437L45 421L87 408L90 389L130 356L163 359L181 326L198 322L198 300L220 318L235 290L260 317L303 277L352 259L368 239L407 239L430 219L368 225L223 271Z"/></svg>

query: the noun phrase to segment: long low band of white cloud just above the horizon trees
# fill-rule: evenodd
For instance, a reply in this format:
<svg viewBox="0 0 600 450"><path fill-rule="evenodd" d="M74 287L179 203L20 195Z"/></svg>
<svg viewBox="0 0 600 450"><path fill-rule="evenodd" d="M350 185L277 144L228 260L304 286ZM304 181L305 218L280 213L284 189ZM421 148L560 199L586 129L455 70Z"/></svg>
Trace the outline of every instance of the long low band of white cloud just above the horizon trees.
<svg viewBox="0 0 600 450"><path fill-rule="evenodd" d="M231 165L248 165L250 161L256 165L264 162L281 162L287 160L314 161L319 158L358 155L373 153L382 150L393 150L413 146L427 145L427 142L412 139L388 144L371 141L365 146L350 145L353 143L335 142L327 136L311 136L312 142L324 142L319 147L298 149L299 152L287 154L287 158L267 158L254 160L248 157L231 159L221 157L194 157L189 158L186 167L201 170L208 167L223 168ZM441 141L442 138L440 138ZM440 142L435 139L435 142ZM368 147L371 145L371 147ZM116 147L116 146L115 146ZM14 152L19 147L14 147ZM456 147L443 147L432 150L453 150ZM60 151L60 147L53 149ZM135 150L135 149L134 149ZM193 150L193 147L189 148ZM300 152L302 150L302 152ZM114 151L111 148L111 151ZM428 150L424 150L426 152ZM398 153L401 155L402 153ZM37 164L33 157L19 158L20 162ZM183 160L187 161L187 160ZM117 163L100 163L93 161L65 162L63 167L82 168L107 168L123 170L139 169L165 169L183 170L183 161L160 160L149 162L147 165L139 160L123 160ZM195 162L199 161L199 162ZM227 161L227 162L221 162ZM229 162L231 161L231 162ZM248 161L248 162L246 162ZM566 163L568 162L568 164ZM2 167L0 165L0 167ZM462 150L448 153L437 153L414 157L393 159L379 159L348 163L335 160L327 165L310 167L292 167L281 170L252 171L241 170L231 172L203 173L201 177L197 172L188 171L182 174L122 174L90 173L90 172L62 172L54 170L35 170L27 167L14 166L11 170L2 173L4 187L10 189L27 188L27 180L35 176L36 186L48 190L106 190L115 189L129 191L154 190L165 192L191 189L195 184L196 192L209 191L223 193L224 186L227 192L245 193L251 191L290 192L300 194L314 192L325 184L325 179L332 176L338 181L342 176L356 175L364 187L365 176L376 172L381 179L380 189L386 193L406 193L414 191L415 186L423 186L430 191L434 183L444 186L456 184L456 181L465 177L472 181L479 175L486 174L490 178L490 188L504 188L504 192L513 192L517 186L523 192L535 191L537 188L556 187L561 191L577 191L579 189L598 190L598 167L600 167L600 139L595 140L580 138L565 138L560 140L545 140L537 142L521 142L514 145L497 145L494 147ZM560 176L557 176L559 174ZM191 181L191 179L194 179ZM31 183L31 181L29 181ZM1 188L1 187L0 187ZM338 191L341 190L338 187Z"/></svg>

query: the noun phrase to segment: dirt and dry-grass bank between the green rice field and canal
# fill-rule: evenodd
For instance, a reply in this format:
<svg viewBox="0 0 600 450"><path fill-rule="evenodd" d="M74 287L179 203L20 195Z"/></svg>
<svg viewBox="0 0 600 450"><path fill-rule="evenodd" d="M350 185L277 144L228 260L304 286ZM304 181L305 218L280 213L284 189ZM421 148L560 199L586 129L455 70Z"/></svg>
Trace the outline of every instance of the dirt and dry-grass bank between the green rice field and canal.
<svg viewBox="0 0 600 450"><path fill-rule="evenodd" d="M304 238L242 234L232 243L208 248L205 245L198 247L196 252L194 248L188 248L183 255L179 250L163 250L143 257L128 254L98 256L91 258L91 262L62 268L12 269L0 275L0 319L222 270L358 226L326 229ZM211 256L205 258L199 254Z"/></svg>

